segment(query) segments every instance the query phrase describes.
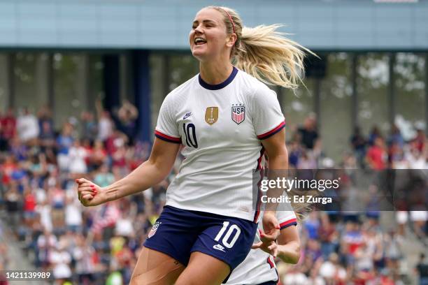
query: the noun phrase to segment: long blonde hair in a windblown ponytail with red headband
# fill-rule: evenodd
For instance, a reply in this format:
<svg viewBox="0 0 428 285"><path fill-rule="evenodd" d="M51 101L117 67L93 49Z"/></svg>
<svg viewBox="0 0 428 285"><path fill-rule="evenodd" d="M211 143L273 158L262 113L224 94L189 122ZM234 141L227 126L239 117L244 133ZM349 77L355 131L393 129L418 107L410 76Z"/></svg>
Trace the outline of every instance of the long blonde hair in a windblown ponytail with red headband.
<svg viewBox="0 0 428 285"><path fill-rule="evenodd" d="M232 63L268 85L297 89L304 74L305 52L313 54L277 31L280 24L243 27L241 17L227 7L208 6L224 15L227 34L236 34Z"/></svg>

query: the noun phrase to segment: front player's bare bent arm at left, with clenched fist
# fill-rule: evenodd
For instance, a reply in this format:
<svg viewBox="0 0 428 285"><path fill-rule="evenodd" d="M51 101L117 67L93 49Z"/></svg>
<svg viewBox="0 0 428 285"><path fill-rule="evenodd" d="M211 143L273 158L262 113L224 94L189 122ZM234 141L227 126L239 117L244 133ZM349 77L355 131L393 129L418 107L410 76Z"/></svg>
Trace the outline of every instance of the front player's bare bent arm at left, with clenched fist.
<svg viewBox="0 0 428 285"><path fill-rule="evenodd" d="M179 148L177 143L155 138L148 161L108 187L101 188L84 178L76 180L79 200L85 206L95 206L149 189L169 175Z"/></svg>

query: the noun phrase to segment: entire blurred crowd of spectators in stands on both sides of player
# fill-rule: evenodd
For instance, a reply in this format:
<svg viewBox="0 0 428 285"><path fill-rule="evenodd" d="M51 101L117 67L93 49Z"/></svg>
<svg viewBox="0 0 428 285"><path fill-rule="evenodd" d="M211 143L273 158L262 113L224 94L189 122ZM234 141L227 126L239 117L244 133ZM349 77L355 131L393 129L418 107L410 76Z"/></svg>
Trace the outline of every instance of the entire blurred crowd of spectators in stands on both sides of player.
<svg viewBox="0 0 428 285"><path fill-rule="evenodd" d="M52 270L58 284L129 282L182 158L152 189L99 207L80 205L74 180L85 177L105 187L145 161L150 145L136 139L137 117L129 102L114 112L97 102L95 114L71 117L56 131L48 108L0 114L0 210L7 214L6 230L24 244L36 268ZM357 130L352 152L335 163L322 152L310 116L287 146L290 166L299 169L427 168L427 141L420 130L407 142L397 128L386 139L376 128L369 138ZM402 228L385 231L378 214L311 212L299 224L299 264L278 261L282 284L400 284L406 275L402 245L408 217L421 238L427 234L427 212L420 213L402 210L397 214ZM0 244L0 268L8 268L10 258ZM428 278L424 258L411 268L421 279Z"/></svg>

